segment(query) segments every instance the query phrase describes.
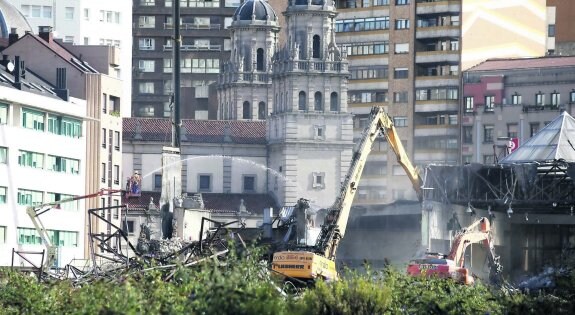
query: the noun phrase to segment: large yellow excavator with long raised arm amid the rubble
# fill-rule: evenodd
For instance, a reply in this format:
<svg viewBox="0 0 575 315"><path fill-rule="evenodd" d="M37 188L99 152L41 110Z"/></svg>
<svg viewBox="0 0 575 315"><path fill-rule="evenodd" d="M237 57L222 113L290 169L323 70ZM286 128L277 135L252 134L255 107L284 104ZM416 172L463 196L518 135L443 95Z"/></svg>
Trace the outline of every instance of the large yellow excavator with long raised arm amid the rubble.
<svg viewBox="0 0 575 315"><path fill-rule="evenodd" d="M397 162L403 167L411 180L418 198L422 199L422 180L417 169L412 165L397 135L393 120L383 107L371 110L369 125L365 128L357 151L354 153L348 173L342 183L340 195L328 209L324 224L314 246L304 246L294 251L279 251L273 254L272 269L285 276L303 282L313 282L317 278L336 280L336 251L349 218L351 205L357 192L359 180L371 147L377 137L383 134L389 147L397 157ZM296 207L309 207L304 199L300 199Z"/></svg>

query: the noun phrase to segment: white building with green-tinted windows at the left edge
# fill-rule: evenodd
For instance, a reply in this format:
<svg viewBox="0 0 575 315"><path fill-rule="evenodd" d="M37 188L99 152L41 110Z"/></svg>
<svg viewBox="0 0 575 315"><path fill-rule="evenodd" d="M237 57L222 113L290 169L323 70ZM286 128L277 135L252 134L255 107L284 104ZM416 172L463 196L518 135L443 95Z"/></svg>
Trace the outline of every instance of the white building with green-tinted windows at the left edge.
<svg viewBox="0 0 575 315"><path fill-rule="evenodd" d="M62 100L30 72L18 85L4 69L0 65L0 265L6 266L13 249L46 249L28 206L85 194L87 138L84 100ZM66 202L40 215L58 246L58 267L84 258L84 208L82 200ZM26 257L40 264L40 255ZM18 256L14 264L29 266Z"/></svg>

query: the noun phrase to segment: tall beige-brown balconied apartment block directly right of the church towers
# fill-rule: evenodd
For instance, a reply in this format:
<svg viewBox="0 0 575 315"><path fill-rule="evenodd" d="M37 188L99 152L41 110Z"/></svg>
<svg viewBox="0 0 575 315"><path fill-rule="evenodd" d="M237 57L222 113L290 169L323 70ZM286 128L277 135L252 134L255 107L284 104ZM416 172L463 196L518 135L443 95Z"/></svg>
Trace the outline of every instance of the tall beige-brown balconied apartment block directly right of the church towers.
<svg viewBox="0 0 575 315"><path fill-rule="evenodd" d="M456 163L461 1L336 1L337 41L347 50L355 136L384 106L415 164ZM376 143L355 204L415 193L386 142ZM393 183L393 184L391 184Z"/></svg>

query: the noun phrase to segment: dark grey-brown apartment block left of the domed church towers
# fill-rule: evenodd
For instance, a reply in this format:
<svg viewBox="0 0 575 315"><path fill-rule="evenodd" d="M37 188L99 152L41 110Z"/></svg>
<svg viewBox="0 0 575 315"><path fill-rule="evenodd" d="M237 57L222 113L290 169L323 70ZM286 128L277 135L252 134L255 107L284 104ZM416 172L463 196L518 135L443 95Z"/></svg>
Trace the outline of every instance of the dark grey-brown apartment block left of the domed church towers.
<svg viewBox="0 0 575 315"><path fill-rule="evenodd" d="M134 1L134 116L171 115L172 4L172 0ZM220 62L229 59L227 27L239 4L239 0L180 1L182 118L217 118L215 90L209 97L209 86L217 82Z"/></svg>

